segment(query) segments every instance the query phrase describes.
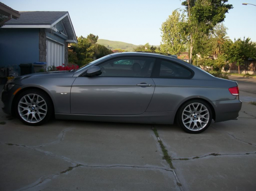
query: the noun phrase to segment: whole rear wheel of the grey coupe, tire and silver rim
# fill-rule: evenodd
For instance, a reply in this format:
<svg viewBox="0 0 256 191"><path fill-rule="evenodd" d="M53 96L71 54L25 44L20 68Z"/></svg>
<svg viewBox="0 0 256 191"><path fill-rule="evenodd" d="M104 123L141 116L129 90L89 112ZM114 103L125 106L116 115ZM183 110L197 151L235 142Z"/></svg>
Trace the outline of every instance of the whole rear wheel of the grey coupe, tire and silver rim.
<svg viewBox="0 0 256 191"><path fill-rule="evenodd" d="M179 109L177 121L187 133L202 133L212 122L212 110L205 101L190 100L185 102Z"/></svg>

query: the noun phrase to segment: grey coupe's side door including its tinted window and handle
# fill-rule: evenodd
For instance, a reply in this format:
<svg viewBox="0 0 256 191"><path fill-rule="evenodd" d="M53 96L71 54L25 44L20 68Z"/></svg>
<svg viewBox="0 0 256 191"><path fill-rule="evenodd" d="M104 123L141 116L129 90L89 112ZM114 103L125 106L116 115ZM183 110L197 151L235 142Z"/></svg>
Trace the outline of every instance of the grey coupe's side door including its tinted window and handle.
<svg viewBox="0 0 256 191"><path fill-rule="evenodd" d="M71 88L71 113L139 115L154 93L155 58L119 57L100 63L102 74L78 76Z"/></svg>

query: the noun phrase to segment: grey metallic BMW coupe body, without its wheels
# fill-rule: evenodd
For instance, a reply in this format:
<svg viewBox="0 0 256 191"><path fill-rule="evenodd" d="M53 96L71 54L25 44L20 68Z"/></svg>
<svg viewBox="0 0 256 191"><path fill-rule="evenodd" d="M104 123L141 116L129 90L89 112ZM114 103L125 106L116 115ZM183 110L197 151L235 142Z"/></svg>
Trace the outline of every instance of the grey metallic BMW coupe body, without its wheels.
<svg viewBox="0 0 256 191"><path fill-rule="evenodd" d="M99 67L100 74L87 74ZM76 71L28 74L7 84L13 87L2 92L5 113L15 114L19 94L37 89L49 96L57 119L173 124L185 103L201 100L221 122L237 119L242 105L238 92L229 90L238 90L236 82L174 56L145 52L110 54Z"/></svg>

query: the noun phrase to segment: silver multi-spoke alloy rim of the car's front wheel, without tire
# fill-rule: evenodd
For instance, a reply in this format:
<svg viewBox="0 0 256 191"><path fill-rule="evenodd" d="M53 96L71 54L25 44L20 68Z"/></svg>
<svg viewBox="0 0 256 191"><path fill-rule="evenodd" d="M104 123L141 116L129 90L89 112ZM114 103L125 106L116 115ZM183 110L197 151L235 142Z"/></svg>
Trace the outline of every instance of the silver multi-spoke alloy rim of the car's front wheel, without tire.
<svg viewBox="0 0 256 191"><path fill-rule="evenodd" d="M38 94L24 95L18 103L19 116L28 123L42 121L47 114L47 104Z"/></svg>

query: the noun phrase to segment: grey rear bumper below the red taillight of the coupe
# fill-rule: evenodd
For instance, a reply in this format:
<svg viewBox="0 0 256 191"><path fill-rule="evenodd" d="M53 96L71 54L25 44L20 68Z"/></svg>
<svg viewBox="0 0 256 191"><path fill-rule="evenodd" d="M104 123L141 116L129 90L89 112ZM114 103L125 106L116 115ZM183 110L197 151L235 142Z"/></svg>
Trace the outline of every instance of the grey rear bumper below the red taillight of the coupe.
<svg viewBox="0 0 256 191"><path fill-rule="evenodd" d="M224 100L210 102L215 110L215 122L237 120L242 102L236 100Z"/></svg>

